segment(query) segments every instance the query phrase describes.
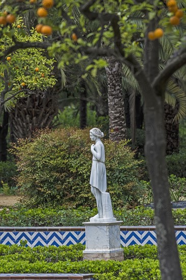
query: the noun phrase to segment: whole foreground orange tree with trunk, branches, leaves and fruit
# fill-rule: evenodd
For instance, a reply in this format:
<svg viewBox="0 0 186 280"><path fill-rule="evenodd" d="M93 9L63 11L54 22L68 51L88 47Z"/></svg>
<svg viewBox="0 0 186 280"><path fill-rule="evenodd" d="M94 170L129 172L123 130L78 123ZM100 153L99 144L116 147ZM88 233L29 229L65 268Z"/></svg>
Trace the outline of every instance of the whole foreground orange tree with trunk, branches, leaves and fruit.
<svg viewBox="0 0 186 280"><path fill-rule="evenodd" d="M7 0L4 5L8 4ZM87 71L95 77L98 69L106 66L106 58L110 57L126 65L135 77L144 99L145 155L153 190L162 279L182 279L165 161L163 103L168 79L186 63L183 2L43 0L34 5L23 1L21 6L14 2L7 8L13 9L10 12L15 14L33 8L39 16L39 23L45 25L44 31L40 26L39 32L50 35L53 30L58 40L48 50L54 55L60 53L59 67L73 67L90 58L91 62L82 73L82 78L86 79ZM138 21L135 22L135 18ZM93 23L91 27L90 22ZM160 40L163 36L171 40L174 48L167 53L165 64L160 65ZM46 48L46 42L35 47ZM27 47L27 42L20 46L15 44L15 48L24 47ZM8 50L2 59L10 52Z"/></svg>

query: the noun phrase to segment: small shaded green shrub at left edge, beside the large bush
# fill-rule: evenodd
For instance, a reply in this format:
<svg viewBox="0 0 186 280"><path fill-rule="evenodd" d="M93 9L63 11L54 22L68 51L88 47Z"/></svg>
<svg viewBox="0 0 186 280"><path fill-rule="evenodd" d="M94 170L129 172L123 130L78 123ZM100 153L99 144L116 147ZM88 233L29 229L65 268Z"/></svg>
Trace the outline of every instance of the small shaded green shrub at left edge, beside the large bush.
<svg viewBox="0 0 186 280"><path fill-rule="evenodd" d="M0 161L0 187L3 187L3 183L15 187L14 177L16 175L16 164L13 161Z"/></svg>

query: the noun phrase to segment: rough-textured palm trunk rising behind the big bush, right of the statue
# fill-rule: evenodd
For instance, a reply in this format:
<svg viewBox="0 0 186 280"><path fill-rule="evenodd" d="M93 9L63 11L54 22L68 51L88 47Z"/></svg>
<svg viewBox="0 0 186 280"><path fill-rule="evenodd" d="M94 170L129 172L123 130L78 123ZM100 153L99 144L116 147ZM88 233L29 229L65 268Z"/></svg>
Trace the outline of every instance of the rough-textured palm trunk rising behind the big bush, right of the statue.
<svg viewBox="0 0 186 280"><path fill-rule="evenodd" d="M106 67L108 85L109 138L120 141L126 138L126 121L122 95L121 64L108 59Z"/></svg>

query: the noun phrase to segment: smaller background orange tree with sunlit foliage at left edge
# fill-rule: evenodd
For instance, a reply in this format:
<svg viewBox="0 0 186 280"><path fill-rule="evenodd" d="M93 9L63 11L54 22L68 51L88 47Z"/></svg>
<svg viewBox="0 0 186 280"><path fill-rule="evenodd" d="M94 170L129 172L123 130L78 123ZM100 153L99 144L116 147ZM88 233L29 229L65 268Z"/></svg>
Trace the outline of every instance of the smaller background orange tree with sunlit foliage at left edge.
<svg viewBox="0 0 186 280"><path fill-rule="evenodd" d="M2 22L1 17L0 22ZM42 41L41 36L35 31L34 27L29 34L25 32L24 28L21 18L17 18L11 25L7 24L6 28L0 27L0 32L3 33L0 38L2 55L6 53L7 49L14 49L17 41L19 41L19 44L23 41L28 41L32 44L38 44ZM54 86L56 80L52 76L53 63L54 59L48 59L43 50L37 48L19 48L16 51L11 51L1 60L0 161L6 161L7 159L8 110L15 106L19 98L27 94L43 96L48 88Z"/></svg>

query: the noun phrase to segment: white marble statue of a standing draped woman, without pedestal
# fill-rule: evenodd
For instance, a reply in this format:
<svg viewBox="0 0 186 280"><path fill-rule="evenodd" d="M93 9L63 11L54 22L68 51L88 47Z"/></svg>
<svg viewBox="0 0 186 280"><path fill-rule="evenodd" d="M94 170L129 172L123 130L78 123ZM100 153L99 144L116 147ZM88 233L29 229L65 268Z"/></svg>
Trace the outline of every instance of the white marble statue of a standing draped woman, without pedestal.
<svg viewBox="0 0 186 280"><path fill-rule="evenodd" d="M97 202L98 214L90 221L114 221L110 194L106 192L107 178L105 168L105 148L101 141L104 136L99 128L90 130L90 139L95 144L91 145L92 166L90 174L91 192L94 194Z"/></svg>

